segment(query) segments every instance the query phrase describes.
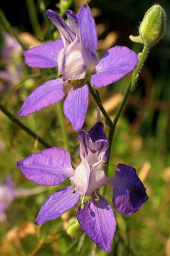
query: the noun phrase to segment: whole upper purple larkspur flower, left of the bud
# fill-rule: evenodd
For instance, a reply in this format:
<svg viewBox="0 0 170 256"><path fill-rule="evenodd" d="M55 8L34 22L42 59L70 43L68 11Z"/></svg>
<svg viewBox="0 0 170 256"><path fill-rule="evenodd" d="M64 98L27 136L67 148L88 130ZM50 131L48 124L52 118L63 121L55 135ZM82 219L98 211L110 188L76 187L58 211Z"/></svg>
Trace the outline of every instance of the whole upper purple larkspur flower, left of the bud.
<svg viewBox="0 0 170 256"><path fill-rule="evenodd" d="M65 116L75 131L82 128L87 111L87 80L94 87L103 87L124 77L138 63L137 54L126 47L109 49L99 60L97 57L97 31L94 18L86 3L78 15L67 10L69 24L55 11L46 11L61 35L52 43L46 43L24 52L25 63L37 68L58 66L58 76L38 87L25 100L19 116L30 115L50 104L57 103L65 96L64 86L71 83L63 104Z"/></svg>

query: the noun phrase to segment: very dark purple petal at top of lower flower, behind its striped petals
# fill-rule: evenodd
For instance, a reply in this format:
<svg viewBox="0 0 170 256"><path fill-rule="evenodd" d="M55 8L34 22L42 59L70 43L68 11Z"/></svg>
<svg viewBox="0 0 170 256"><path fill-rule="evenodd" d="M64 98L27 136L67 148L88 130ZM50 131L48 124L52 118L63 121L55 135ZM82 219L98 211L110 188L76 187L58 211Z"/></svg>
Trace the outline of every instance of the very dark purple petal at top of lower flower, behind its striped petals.
<svg viewBox="0 0 170 256"><path fill-rule="evenodd" d="M104 139L107 140L107 136L104 133L104 124L101 121L98 121L91 129L88 131L88 134L91 136L92 142L96 140ZM108 160L109 149L105 152L104 162Z"/></svg>

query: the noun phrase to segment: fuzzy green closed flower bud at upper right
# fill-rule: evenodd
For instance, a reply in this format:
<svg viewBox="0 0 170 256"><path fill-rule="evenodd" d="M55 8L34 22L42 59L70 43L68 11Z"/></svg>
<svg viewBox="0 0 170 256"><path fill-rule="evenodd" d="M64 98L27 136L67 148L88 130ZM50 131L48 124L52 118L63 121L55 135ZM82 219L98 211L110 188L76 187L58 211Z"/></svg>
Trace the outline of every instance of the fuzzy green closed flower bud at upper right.
<svg viewBox="0 0 170 256"><path fill-rule="evenodd" d="M165 34L165 19L165 12L160 5L148 9L139 26L139 35L143 44L151 46L162 39Z"/></svg>

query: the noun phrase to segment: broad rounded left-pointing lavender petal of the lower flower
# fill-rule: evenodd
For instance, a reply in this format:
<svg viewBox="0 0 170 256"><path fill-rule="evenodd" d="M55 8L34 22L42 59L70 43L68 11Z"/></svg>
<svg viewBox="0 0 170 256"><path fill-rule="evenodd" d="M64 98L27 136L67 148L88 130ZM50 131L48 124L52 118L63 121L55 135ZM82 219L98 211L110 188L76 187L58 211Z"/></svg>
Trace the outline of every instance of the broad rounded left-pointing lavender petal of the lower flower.
<svg viewBox="0 0 170 256"><path fill-rule="evenodd" d="M74 175L70 153L62 148L44 149L17 162L17 166L30 181L53 186Z"/></svg>

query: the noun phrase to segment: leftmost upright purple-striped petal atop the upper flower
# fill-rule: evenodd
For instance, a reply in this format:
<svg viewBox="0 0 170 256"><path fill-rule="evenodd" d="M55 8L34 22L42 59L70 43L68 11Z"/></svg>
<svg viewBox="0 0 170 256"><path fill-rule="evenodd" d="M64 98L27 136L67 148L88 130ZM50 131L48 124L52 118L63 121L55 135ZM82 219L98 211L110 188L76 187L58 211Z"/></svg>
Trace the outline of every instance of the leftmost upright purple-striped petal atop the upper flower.
<svg viewBox="0 0 170 256"><path fill-rule="evenodd" d="M65 20L61 18L57 14L56 11L47 10L46 15L48 18L54 23L54 25L58 28L63 43L66 45L72 43L75 40L75 31L73 31L73 27L69 26Z"/></svg>

